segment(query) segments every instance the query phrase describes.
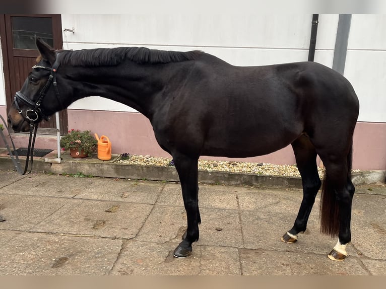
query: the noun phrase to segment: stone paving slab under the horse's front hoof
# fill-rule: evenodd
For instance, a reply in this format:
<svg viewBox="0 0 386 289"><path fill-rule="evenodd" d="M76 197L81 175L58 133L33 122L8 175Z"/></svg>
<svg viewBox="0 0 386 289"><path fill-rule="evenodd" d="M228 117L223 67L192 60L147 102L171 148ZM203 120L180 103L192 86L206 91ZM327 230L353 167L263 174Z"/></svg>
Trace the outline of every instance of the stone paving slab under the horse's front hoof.
<svg viewBox="0 0 386 289"><path fill-rule="evenodd" d="M236 248L196 246L189 258L171 256L175 244L128 242L113 275L240 275ZM135 252L135 254L133 254Z"/></svg>

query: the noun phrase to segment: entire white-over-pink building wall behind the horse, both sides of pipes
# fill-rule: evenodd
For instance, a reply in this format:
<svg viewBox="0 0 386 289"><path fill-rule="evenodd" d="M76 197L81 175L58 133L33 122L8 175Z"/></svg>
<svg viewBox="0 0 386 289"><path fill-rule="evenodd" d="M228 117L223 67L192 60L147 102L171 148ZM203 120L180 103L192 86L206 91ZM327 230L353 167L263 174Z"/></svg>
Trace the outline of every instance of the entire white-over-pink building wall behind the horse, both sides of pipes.
<svg viewBox="0 0 386 289"><path fill-rule="evenodd" d="M63 32L63 48L199 49L234 65L306 61L311 19L312 15L65 14L63 29L74 28L75 33ZM338 15L319 15L315 61L329 67L333 63L338 19ZM344 75L361 104L354 133L354 169L386 169L386 114L382 111L386 107L385 27L385 15L352 16ZM4 87L2 84L3 75L0 86ZM0 107L5 103L1 89ZM69 107L69 128L91 129L107 135L114 154L168 156L159 148L149 120L130 107L98 96L79 100ZM290 146L267 156L241 160L295 163Z"/></svg>

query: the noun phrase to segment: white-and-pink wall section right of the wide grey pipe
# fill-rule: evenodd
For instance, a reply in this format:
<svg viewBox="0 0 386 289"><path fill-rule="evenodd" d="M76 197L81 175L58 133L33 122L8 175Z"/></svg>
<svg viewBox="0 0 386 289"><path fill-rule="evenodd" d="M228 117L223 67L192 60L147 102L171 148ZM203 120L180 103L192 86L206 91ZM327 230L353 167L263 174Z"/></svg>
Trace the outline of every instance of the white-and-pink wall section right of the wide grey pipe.
<svg viewBox="0 0 386 289"><path fill-rule="evenodd" d="M386 15L352 15L344 76L360 101L353 166L386 169Z"/></svg>

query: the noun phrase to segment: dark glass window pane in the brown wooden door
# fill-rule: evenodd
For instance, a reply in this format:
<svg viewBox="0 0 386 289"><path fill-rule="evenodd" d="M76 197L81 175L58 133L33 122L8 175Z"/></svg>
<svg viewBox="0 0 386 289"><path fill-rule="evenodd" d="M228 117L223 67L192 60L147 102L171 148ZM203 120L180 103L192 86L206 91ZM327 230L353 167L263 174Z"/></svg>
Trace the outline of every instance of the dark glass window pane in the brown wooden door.
<svg viewBox="0 0 386 289"><path fill-rule="evenodd" d="M52 18L11 17L14 48L36 50L35 35L53 47Z"/></svg>

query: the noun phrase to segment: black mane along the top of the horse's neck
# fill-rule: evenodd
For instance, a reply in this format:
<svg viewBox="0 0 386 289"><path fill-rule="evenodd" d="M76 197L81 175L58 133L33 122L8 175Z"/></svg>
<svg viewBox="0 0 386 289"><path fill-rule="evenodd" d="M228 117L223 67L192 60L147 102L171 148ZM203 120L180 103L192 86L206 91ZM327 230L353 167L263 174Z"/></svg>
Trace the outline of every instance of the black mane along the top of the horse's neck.
<svg viewBox="0 0 386 289"><path fill-rule="evenodd" d="M117 65L126 59L139 64L168 63L194 60L202 53L198 50L179 52L149 49L146 47L63 50L61 51L60 62L74 66L110 66Z"/></svg>

